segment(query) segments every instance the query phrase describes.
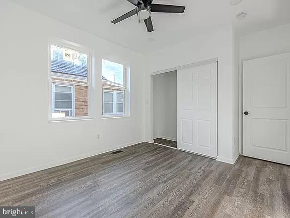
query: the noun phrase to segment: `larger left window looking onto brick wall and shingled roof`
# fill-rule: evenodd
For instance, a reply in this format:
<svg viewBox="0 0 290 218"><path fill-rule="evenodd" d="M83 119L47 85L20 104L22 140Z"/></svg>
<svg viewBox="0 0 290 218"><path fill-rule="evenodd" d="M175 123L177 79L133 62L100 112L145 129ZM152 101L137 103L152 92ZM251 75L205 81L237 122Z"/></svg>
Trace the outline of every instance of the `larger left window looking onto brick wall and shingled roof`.
<svg viewBox="0 0 290 218"><path fill-rule="evenodd" d="M89 118L89 53L50 45L50 120Z"/></svg>

